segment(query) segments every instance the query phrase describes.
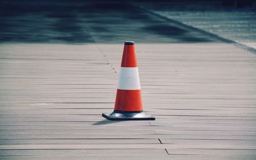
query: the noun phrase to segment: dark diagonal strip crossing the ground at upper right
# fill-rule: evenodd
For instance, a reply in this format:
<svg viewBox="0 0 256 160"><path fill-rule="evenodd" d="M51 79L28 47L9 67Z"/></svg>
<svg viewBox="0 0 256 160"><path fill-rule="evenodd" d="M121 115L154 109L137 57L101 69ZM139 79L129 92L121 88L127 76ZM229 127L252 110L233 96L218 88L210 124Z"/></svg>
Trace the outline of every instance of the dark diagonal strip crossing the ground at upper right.
<svg viewBox="0 0 256 160"><path fill-rule="evenodd" d="M216 38L217 40L220 40L221 42L225 42L225 43L227 43L227 44L232 44L232 45L234 45L234 46L236 46L236 47L238 47L239 49L242 49L242 50L244 50L244 51L249 51L249 52L252 52L253 54L256 54L256 49L253 49L252 47L248 47L247 45L243 45L243 44L240 44L240 43L235 42L235 41L233 41L233 40L229 40L229 39L227 39L227 38L223 38L223 37L218 36L218 35L215 35L215 34L213 34L213 33L209 33L209 32L204 31L204 30L202 30L202 29L195 28L195 27L193 27L193 26L189 26L188 24L184 24L184 23L182 23L182 22L179 22L178 20L173 20L173 19L170 19L170 18L165 17L165 16L163 16L163 15L159 15L158 13L155 13L155 12L152 12L152 11L150 11L150 10L147 10L146 8L143 8L143 7L138 6L138 5L136 5L136 4L131 4L131 5L132 5L132 6L135 6L135 7L137 7L137 8L140 8L140 10L143 10L143 11L145 11L145 12L147 12L147 13L150 13L151 15L155 15L156 17L159 17L159 18L161 18L161 19L164 19L164 20L166 20L167 22L173 22L174 24L177 24L177 25L182 26L182 27L184 27L184 28L191 29L192 31L197 31L198 33L202 33L202 34L207 35L207 36L210 36L210 37L212 37L212 38Z"/></svg>

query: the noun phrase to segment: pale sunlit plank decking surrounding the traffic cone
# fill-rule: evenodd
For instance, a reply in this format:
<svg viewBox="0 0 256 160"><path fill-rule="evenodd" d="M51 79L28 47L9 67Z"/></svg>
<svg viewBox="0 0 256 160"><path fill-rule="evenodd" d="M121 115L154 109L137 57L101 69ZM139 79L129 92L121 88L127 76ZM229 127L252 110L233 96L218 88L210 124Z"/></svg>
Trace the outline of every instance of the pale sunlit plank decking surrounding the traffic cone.
<svg viewBox="0 0 256 160"><path fill-rule="evenodd" d="M136 44L156 121L110 122L122 44L0 48L0 159L255 158L255 54Z"/></svg>

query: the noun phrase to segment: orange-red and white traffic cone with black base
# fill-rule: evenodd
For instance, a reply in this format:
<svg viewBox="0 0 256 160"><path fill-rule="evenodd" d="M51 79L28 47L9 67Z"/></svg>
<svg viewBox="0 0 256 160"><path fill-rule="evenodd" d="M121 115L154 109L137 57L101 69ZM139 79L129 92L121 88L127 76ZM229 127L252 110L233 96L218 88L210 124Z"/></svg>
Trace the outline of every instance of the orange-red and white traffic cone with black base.
<svg viewBox="0 0 256 160"><path fill-rule="evenodd" d="M124 43L115 109L108 115L102 113L102 116L108 120L155 120L152 115L143 112L134 42Z"/></svg>

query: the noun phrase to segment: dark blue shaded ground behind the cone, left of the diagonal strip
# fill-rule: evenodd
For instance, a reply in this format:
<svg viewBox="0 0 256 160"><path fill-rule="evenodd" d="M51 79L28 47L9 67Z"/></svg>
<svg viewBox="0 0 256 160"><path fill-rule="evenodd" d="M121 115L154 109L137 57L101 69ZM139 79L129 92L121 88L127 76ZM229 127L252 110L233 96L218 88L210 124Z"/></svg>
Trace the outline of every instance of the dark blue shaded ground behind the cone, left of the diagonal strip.
<svg viewBox="0 0 256 160"><path fill-rule="evenodd" d="M0 42L215 42L125 1L1 1Z"/></svg>

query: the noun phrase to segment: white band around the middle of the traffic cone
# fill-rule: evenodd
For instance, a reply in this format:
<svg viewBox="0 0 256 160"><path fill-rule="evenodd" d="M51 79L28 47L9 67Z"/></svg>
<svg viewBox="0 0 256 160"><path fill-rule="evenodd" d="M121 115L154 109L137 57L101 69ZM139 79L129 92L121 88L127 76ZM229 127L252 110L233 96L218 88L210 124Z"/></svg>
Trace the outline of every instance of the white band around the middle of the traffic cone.
<svg viewBox="0 0 256 160"><path fill-rule="evenodd" d="M138 67L121 67L117 88L119 90L140 90Z"/></svg>

